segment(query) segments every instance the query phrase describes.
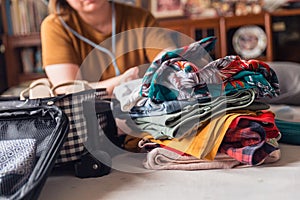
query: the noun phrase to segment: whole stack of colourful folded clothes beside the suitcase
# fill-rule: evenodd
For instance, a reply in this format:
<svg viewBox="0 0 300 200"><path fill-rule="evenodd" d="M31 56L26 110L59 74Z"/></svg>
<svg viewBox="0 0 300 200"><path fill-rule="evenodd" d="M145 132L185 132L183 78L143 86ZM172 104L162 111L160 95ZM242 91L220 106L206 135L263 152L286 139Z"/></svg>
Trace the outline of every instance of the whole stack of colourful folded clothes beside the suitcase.
<svg viewBox="0 0 300 200"><path fill-rule="evenodd" d="M198 61L215 40L166 52L135 82L139 89L115 91L122 110L144 133L139 146L148 152L146 168L232 168L280 158L275 115L258 101L279 95L275 72L239 56L201 66Z"/></svg>

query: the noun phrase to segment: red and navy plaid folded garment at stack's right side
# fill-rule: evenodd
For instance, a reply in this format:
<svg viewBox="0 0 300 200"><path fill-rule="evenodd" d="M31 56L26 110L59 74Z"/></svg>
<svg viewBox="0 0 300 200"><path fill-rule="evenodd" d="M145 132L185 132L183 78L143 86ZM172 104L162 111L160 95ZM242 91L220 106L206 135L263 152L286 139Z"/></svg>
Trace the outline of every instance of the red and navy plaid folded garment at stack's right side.
<svg viewBox="0 0 300 200"><path fill-rule="evenodd" d="M227 130L219 151L246 165L259 165L279 149L281 134L271 112L237 118Z"/></svg>

